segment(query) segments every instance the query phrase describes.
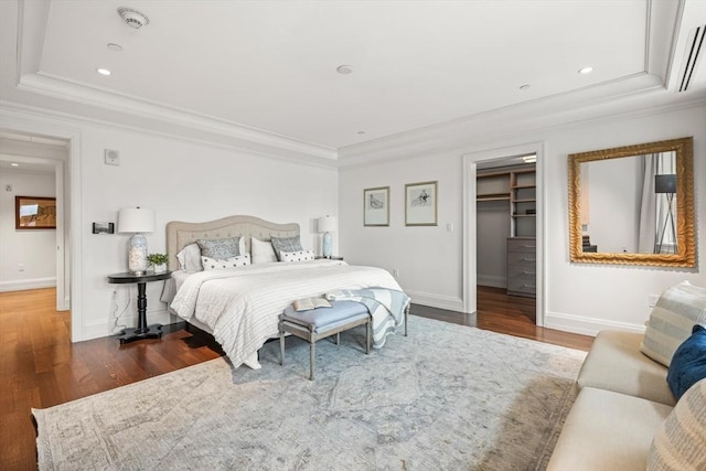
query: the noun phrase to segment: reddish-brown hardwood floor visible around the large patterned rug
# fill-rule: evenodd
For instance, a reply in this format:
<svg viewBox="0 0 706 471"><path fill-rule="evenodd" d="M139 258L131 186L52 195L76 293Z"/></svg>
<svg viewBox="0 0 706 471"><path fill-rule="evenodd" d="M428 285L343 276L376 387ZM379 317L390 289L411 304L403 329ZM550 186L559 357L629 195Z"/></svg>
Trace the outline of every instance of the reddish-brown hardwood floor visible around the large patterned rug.
<svg viewBox="0 0 706 471"><path fill-rule="evenodd" d="M537 328L534 300L479 287L477 314L413 306L411 313L588 350L592 338ZM160 340L120 345L115 338L71 343L71 314L54 289L0 293L0 470L35 470L31 408L46 408L220 356L218 345L183 324Z"/></svg>

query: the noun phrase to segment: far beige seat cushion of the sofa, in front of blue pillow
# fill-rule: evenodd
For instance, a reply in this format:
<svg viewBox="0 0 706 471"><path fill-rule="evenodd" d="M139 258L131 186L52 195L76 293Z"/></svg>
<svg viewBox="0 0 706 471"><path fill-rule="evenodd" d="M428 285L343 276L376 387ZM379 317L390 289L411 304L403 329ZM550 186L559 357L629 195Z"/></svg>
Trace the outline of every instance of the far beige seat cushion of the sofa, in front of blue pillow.
<svg viewBox="0 0 706 471"><path fill-rule="evenodd" d="M580 387L597 387L673 406L667 370L640 353L642 334L606 330L598 333L578 373Z"/></svg>

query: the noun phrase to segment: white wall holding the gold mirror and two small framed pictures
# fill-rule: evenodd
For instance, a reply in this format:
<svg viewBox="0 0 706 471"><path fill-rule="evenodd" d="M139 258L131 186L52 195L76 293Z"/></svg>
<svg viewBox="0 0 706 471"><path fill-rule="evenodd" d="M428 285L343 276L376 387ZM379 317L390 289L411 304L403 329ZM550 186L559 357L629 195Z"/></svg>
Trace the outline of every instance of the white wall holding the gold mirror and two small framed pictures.
<svg viewBox="0 0 706 471"><path fill-rule="evenodd" d="M602 328L643 329L648 295L689 280L706 285L703 268L671 269L569 263L567 156L663 139L694 137L697 260L706 247L706 111L703 106L638 113L622 118L555 126L483 140L460 130L451 149L418 156L417 149L389 151L394 161L351 165L340 172L342 255L355 264L399 269L399 282L415 302L462 310L462 165L461 156L528 142L544 144L545 179L545 324L592 334ZM435 144L437 144L435 142ZM443 148L438 144L437 148ZM405 152L414 156L405 159ZM439 181L439 225L405 227L405 183ZM391 186L391 226L363 227L363 189ZM453 232L447 229L451 224Z"/></svg>

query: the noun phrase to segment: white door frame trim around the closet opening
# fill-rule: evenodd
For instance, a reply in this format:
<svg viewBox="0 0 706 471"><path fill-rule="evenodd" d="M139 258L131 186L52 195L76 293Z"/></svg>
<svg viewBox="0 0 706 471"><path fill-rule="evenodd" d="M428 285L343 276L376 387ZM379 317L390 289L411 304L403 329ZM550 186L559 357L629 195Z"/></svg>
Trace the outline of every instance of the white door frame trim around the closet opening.
<svg viewBox="0 0 706 471"><path fill-rule="evenodd" d="M544 165L544 142L528 142L512 147L496 148L479 152L466 153L462 156L463 163L463 312L475 312L478 290L478 259L477 259L477 208L475 194L477 182L475 175L478 163L488 160L507 159L518 156L527 156L534 153L537 156L535 167L536 179L536 231L537 231L537 297L536 297L536 324L544 327L546 317L546 299L545 290L545 165Z"/></svg>

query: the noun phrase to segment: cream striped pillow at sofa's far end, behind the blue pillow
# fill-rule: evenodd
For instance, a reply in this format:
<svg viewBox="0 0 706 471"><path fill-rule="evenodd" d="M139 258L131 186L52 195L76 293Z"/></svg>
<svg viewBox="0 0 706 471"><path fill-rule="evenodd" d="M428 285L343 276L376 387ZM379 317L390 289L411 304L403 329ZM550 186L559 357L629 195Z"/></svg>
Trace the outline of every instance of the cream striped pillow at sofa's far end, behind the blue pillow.
<svg viewBox="0 0 706 471"><path fill-rule="evenodd" d="M640 351L668 367L694 324L706 325L706 288L683 281L664 291L652 309Z"/></svg>

